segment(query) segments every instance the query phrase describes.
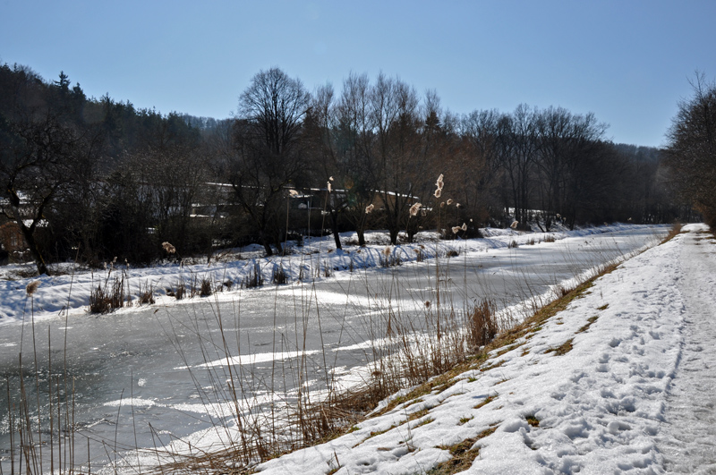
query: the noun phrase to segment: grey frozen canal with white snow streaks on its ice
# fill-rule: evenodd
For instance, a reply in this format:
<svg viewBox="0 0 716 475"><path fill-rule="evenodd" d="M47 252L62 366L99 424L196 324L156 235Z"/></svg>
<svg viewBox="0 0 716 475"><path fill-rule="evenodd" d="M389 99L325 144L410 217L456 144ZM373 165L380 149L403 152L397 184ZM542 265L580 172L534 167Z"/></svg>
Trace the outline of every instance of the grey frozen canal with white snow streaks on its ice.
<svg viewBox="0 0 716 475"><path fill-rule="evenodd" d="M64 319L52 318L36 323L34 341L27 323L5 325L0 330L0 375L8 389L0 392L0 410L6 411L8 391L11 400L18 399L22 375L29 401L36 401L39 388L40 417L48 426L48 381L53 392L60 381L63 399L69 381L67 394L73 397L62 411L73 411L70 416L79 428L73 459L76 465L86 463L89 443L94 470L127 448L164 445L231 418L236 406L226 381L232 377L241 393L239 403L265 401L267 394L290 399L297 386L320 391L350 381L355 369L370 363L379 350L391 311L414 318L420 327L425 302L437 303L437 280L442 305L460 310L489 297L504 308L544 294L550 285L665 232L644 226L462 253L440 259L437 272L433 260L343 271L315 283L242 290L231 299L193 299L101 317L75 315L66 325ZM38 419L37 405L30 404L30 420ZM42 437L47 460L49 435ZM68 450L69 445L63 459L70 457ZM10 454L5 414L0 416L3 472L10 472Z"/></svg>

